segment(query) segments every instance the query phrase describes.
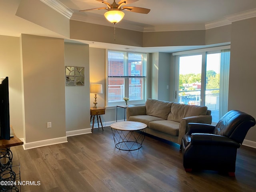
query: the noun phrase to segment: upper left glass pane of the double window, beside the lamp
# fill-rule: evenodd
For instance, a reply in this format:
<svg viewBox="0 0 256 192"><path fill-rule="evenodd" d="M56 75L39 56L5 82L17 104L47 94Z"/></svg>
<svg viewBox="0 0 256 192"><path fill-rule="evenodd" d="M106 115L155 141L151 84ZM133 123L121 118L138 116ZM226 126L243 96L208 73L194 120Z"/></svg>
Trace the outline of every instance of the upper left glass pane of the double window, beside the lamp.
<svg viewBox="0 0 256 192"><path fill-rule="evenodd" d="M108 51L108 76L124 76L124 53Z"/></svg>

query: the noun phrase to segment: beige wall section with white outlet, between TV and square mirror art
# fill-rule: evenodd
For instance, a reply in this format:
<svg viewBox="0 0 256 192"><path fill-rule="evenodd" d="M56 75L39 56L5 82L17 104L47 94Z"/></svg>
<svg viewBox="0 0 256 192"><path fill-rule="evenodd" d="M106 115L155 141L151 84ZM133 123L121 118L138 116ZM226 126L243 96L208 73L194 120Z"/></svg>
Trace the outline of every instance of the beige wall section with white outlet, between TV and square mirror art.
<svg viewBox="0 0 256 192"><path fill-rule="evenodd" d="M26 143L66 136L64 40L22 34ZM52 122L52 128L47 128Z"/></svg>

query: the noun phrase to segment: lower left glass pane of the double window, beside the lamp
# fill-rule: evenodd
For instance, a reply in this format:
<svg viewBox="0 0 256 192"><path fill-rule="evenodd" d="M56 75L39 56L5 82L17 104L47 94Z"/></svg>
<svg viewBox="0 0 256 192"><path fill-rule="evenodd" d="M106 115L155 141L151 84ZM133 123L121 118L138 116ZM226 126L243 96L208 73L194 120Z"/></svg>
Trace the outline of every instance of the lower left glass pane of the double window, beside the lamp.
<svg viewBox="0 0 256 192"><path fill-rule="evenodd" d="M108 78L108 102L124 98L124 78Z"/></svg>

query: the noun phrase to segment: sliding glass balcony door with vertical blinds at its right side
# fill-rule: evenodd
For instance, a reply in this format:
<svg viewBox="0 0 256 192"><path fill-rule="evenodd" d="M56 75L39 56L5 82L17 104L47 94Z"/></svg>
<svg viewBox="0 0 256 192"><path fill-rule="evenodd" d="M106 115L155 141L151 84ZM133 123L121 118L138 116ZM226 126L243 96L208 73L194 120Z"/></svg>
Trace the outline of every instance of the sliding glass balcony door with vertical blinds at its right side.
<svg viewBox="0 0 256 192"><path fill-rule="evenodd" d="M228 110L230 49L224 48L176 56L176 102L207 106L213 123Z"/></svg>

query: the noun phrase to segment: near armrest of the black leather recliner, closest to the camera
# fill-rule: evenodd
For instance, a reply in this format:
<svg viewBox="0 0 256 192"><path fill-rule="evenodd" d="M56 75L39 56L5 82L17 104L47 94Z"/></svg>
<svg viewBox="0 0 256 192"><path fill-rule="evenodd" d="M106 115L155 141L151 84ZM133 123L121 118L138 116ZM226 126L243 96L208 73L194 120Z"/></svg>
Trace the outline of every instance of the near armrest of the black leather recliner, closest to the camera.
<svg viewBox="0 0 256 192"><path fill-rule="evenodd" d="M214 134L191 134L191 145L214 145L214 146L231 146L239 148L240 144L228 137Z"/></svg>

